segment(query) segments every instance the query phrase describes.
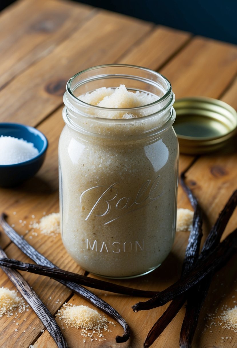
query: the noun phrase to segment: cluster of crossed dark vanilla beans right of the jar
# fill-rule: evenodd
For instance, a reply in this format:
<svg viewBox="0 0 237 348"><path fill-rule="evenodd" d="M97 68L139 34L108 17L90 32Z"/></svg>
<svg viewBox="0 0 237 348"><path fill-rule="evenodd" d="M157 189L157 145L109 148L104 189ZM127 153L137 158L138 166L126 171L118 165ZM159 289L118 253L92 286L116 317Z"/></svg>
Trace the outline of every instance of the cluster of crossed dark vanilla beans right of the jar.
<svg viewBox="0 0 237 348"><path fill-rule="evenodd" d="M188 168L186 169L186 171ZM199 312L209 289L214 273L226 264L237 250L237 229L220 243L224 229L237 205L237 190L229 198L212 227L199 254L202 238L202 211L196 197L185 184L185 172L181 173L180 182L194 208L193 227L190 232L181 278L146 302L132 306L135 312L149 310L172 300L163 315L153 325L144 343L150 347L187 301L186 314L180 333L180 348L190 348L197 326Z"/></svg>

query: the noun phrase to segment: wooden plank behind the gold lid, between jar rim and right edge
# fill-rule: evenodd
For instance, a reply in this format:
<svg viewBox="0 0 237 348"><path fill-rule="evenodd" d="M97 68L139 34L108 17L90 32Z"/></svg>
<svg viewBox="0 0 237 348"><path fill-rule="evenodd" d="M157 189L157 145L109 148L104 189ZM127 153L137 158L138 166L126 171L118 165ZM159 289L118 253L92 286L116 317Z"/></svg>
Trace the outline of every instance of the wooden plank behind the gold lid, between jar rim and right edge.
<svg viewBox="0 0 237 348"><path fill-rule="evenodd" d="M225 42L195 37L161 73L172 85L176 98L218 98L237 72L237 47Z"/></svg>

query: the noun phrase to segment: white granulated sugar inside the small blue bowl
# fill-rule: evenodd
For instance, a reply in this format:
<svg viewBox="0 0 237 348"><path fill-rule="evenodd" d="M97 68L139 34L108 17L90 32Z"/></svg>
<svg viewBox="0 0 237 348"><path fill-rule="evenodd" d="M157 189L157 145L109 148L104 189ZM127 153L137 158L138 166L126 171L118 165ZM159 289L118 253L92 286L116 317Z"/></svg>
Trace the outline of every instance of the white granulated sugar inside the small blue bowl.
<svg viewBox="0 0 237 348"><path fill-rule="evenodd" d="M38 154L33 143L12 136L0 136L0 165L22 163Z"/></svg>

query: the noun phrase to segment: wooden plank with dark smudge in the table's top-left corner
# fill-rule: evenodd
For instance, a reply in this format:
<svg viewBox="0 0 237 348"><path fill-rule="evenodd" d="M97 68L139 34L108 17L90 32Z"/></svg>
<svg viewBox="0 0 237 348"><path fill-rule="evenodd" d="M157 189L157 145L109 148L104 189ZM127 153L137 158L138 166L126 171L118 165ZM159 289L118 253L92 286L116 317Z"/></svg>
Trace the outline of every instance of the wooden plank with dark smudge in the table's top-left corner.
<svg viewBox="0 0 237 348"><path fill-rule="evenodd" d="M0 88L82 26L92 8L70 1L23 0L0 16Z"/></svg>

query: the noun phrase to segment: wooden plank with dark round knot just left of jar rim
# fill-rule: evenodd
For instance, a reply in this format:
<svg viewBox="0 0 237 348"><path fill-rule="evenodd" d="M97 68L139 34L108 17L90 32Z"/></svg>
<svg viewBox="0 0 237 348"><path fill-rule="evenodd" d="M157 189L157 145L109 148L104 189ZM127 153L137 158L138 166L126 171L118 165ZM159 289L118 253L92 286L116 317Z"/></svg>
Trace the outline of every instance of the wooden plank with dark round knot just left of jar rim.
<svg viewBox="0 0 237 348"><path fill-rule="evenodd" d="M62 104L73 74L115 61L150 28L149 23L101 11L0 91L1 121L37 124ZM12 96L18 102L6 103Z"/></svg>

